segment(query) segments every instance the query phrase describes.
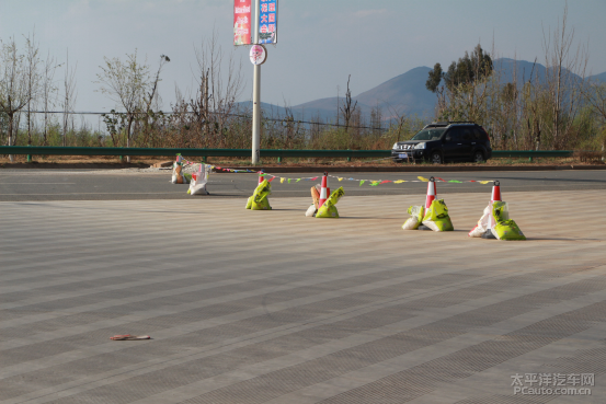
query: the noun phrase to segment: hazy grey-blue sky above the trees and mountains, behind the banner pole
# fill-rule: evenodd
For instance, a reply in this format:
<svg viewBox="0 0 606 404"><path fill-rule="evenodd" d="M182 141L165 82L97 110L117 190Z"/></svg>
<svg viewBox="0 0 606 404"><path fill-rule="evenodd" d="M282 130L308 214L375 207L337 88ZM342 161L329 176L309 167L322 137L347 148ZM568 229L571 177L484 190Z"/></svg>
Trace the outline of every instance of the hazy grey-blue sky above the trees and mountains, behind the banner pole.
<svg viewBox="0 0 606 404"><path fill-rule="evenodd" d="M414 67L443 65L478 42L498 57L542 62L542 30L554 28L561 0L281 0L279 43L262 67L262 101L290 105L341 93L347 74L356 95ZM94 92L103 57L138 49L163 71L164 109L175 83L195 88L194 47L213 33L228 54L242 58L250 100L248 48L232 46L233 0L0 0L0 38L20 41L34 27L46 54L78 62L77 111L108 111L114 104ZM606 1L570 0L569 24L587 44L592 73L606 71ZM541 26L542 24L542 26ZM62 74L58 71L57 78Z"/></svg>

